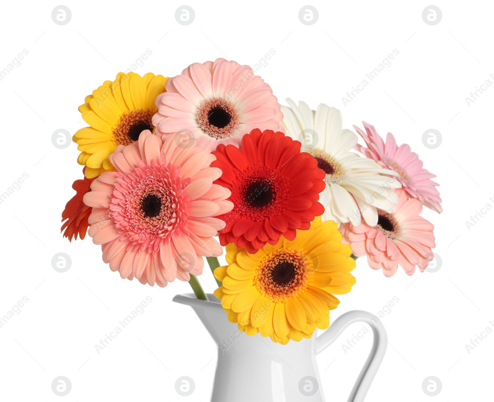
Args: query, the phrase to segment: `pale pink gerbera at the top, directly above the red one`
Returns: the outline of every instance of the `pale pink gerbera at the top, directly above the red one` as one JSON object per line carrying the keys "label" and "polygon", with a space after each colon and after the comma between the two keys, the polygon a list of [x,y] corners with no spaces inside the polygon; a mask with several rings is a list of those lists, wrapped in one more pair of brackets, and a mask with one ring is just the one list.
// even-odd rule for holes
{"label": "pale pink gerbera at the top, directly above the red one", "polygon": [[153,124],[159,133],[186,132],[206,151],[218,144],[238,147],[253,129],[283,131],[271,87],[249,66],[222,58],[191,64],[170,78],[156,106]]}

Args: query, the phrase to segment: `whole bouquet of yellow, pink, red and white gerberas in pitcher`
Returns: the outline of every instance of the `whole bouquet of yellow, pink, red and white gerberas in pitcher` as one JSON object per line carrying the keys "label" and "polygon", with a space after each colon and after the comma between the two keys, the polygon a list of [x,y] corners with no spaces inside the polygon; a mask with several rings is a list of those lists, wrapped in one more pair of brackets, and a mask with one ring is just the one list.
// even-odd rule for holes
{"label": "whole bouquet of yellow, pink, red and white gerberas in pitcher", "polygon": [[122,278],[189,281],[204,300],[206,257],[225,319],[281,344],[329,326],[357,257],[386,276],[423,271],[434,226],[419,214],[442,211],[434,175],[390,133],[354,126],[362,146],[339,110],[287,102],[225,59],[103,82],[79,107],[89,127],[73,137],[84,168],[64,236],[87,230]]}

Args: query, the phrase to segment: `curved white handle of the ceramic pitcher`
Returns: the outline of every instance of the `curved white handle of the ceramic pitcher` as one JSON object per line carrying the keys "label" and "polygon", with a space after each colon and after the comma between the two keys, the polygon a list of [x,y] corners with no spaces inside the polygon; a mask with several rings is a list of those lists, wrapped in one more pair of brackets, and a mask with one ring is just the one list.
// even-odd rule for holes
{"label": "curved white handle of the ceramic pitcher", "polygon": [[319,355],[341,335],[346,327],[354,322],[367,322],[371,325],[372,333],[374,334],[371,353],[367,357],[367,361],[347,400],[347,402],[363,402],[388,345],[386,330],[379,318],[362,310],[342,314],[329,325],[329,328],[325,332],[316,338],[315,353]]}

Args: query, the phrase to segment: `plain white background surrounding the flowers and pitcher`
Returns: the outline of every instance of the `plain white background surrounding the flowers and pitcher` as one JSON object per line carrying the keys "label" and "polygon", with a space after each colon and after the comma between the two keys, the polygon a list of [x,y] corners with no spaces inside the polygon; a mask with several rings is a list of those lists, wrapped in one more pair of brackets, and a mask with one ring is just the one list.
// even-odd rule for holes
{"label": "plain white background surrounding the flowers and pitcher", "polygon": [[[24,172],[19,190],[0,205],[2,265],[0,316],[23,296],[29,301],[0,328],[0,399],[59,401],[51,391],[66,376],[64,401],[208,401],[216,350],[193,311],[171,302],[189,292],[175,281],[160,289],[122,280],[101,260],[90,238],[70,244],[60,234],[60,215],[81,177],[77,145],[57,149],[57,129],[74,134],[86,124],[77,107],[104,80],[114,80],[146,49],[152,54],[136,72],[179,74],[193,62],[216,57],[253,66],[269,49],[276,54],[258,74],[281,103],[286,97],[341,109],[344,127],[365,120],[398,143],[407,142],[441,184],[444,213],[424,210],[435,224],[442,267],[435,273],[392,278],[360,259],[357,284],[331,313],[352,309],[377,314],[393,296],[399,302],[382,318],[388,350],[367,401],[492,400],[494,334],[470,353],[486,327],[494,329],[492,232],[489,211],[468,230],[465,221],[487,203],[492,188],[490,87],[469,106],[465,97],[494,73],[492,2],[437,1],[443,16],[429,26],[424,1],[312,1],[318,21],[303,25],[301,1],[189,1],[191,25],[179,25],[177,1],[67,1],[71,21],[51,19],[55,2],[2,2],[0,70],[23,49],[29,54],[0,81],[0,193]],[[342,97],[365,79],[393,49],[399,55],[358,96]],[[442,134],[428,149],[422,134]],[[70,255],[65,273],[51,266]],[[214,280],[205,269],[207,292]],[[99,354],[94,345],[146,296],[152,302]],[[318,357],[328,401],[346,401],[371,346],[371,335],[350,351],[342,344],[354,324]],[[239,362],[241,363],[241,362]],[[175,380],[194,379],[195,392],[179,396]],[[422,391],[436,376],[442,391]],[[243,392],[253,392],[246,379]],[[250,391],[249,391],[250,390]],[[239,390],[239,392],[242,392]],[[262,396],[253,393],[259,402]]]}

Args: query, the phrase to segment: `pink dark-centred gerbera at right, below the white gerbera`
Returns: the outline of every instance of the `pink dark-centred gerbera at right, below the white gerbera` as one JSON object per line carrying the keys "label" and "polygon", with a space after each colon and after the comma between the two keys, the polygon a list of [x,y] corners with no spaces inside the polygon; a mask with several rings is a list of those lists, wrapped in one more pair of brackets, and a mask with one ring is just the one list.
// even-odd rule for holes
{"label": "pink dark-centred gerbera at right, below the white gerbera", "polygon": [[396,189],[398,204],[393,212],[377,210],[375,226],[362,223],[353,226],[344,223],[339,227],[342,243],[349,244],[357,257],[367,255],[367,262],[373,269],[381,269],[386,276],[395,274],[400,265],[408,275],[418,266],[424,271],[434,258],[432,247],[436,247],[434,225],[419,214],[422,204],[415,198],[408,198],[405,190]]}

